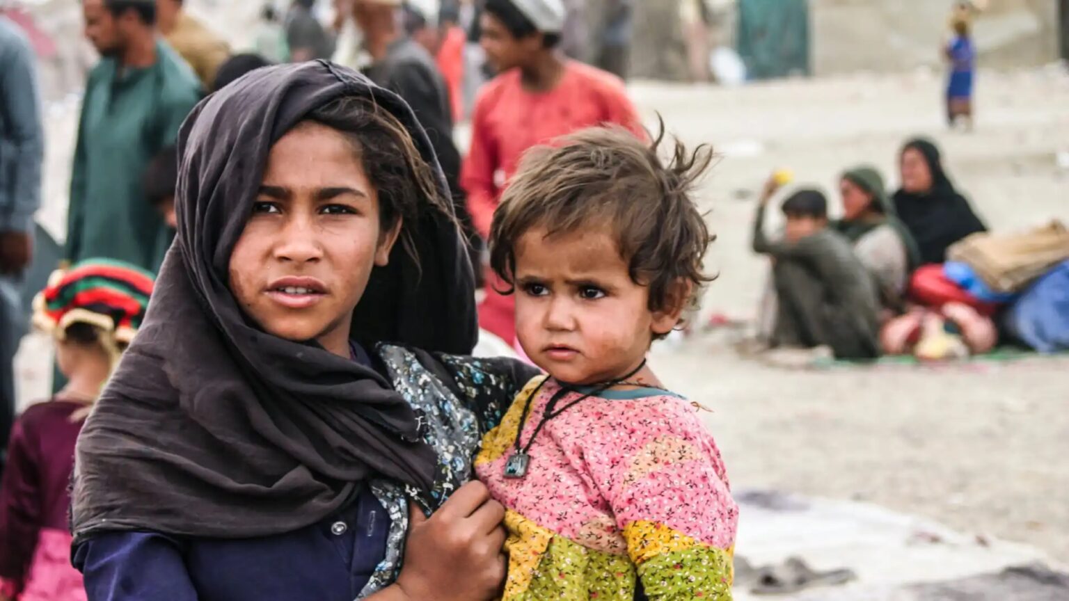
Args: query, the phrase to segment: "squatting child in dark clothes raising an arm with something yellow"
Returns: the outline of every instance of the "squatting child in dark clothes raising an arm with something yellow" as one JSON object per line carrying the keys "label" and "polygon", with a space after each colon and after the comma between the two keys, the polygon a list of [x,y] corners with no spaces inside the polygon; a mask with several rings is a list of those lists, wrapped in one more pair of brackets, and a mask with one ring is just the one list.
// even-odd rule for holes
{"label": "squatting child in dark clothes raising an arm with something yellow", "polygon": [[837,358],[880,355],[878,287],[842,234],[827,227],[827,200],[802,189],[784,202],[783,242],[764,234],[764,210],[778,184],[769,180],[754,220],[754,250],[773,261],[778,308],[773,346],[830,346]]}

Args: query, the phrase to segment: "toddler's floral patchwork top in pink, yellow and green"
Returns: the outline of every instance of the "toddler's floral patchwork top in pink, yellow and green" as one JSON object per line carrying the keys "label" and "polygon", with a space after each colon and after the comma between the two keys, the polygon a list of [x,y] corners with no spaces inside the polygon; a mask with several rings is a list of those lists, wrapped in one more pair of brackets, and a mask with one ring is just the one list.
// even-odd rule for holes
{"label": "toddler's floral patchwork top in pink, yellow and green", "polygon": [[545,423],[524,478],[506,478],[527,399],[537,391],[525,445],[560,389],[541,382],[516,396],[476,460],[508,510],[502,599],[730,601],[739,510],[697,410],[654,389],[590,397]]}

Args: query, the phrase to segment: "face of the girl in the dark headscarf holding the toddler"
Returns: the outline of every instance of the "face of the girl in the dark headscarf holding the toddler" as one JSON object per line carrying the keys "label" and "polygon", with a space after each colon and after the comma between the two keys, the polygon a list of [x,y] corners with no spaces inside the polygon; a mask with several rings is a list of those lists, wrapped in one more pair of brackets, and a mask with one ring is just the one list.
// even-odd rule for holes
{"label": "face of the girl in the dark headscarf holding the toddler", "polygon": [[353,142],[306,122],[272,148],[230,257],[230,289],[264,332],[348,356],[353,310],[401,230],[379,222],[377,190]]}

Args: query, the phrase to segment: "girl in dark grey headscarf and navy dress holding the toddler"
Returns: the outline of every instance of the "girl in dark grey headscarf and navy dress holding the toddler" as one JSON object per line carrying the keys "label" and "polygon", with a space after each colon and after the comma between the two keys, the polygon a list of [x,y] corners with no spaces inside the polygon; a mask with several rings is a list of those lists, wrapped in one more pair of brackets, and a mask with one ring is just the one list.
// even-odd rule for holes
{"label": "girl in dark grey headscarf and navy dress holding the toddler", "polygon": [[177,237],[78,441],[89,598],[491,598],[503,511],[465,482],[533,373],[461,356],[471,268],[412,110],[280,65],[179,151]]}

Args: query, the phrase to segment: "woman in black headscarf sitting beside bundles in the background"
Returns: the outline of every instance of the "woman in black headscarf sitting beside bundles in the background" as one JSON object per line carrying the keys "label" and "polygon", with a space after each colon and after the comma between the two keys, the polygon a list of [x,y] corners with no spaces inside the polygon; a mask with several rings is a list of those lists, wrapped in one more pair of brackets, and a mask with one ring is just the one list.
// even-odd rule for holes
{"label": "woman in black headscarf sitting beside bundles in the background", "polygon": [[923,264],[945,262],[946,250],[954,243],[987,231],[950,183],[934,143],[924,138],[911,140],[899,159],[902,187],[895,192],[895,210],[913,234]]}

